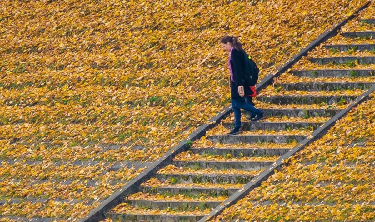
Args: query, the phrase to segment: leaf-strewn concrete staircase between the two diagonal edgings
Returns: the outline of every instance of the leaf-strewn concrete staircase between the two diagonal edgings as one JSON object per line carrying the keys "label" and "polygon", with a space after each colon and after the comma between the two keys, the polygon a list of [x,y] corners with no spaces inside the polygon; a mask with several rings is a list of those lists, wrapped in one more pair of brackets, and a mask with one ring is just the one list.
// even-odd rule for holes
{"label": "leaf-strewn concrete staircase between the two diagonal edgings", "polygon": [[[368,23],[374,24],[375,20],[368,20]],[[375,31],[345,32],[342,36],[375,38]],[[375,44],[324,47],[327,51],[331,48],[341,51],[353,48],[360,51],[375,50]],[[375,64],[375,56],[308,59],[318,64],[353,61]],[[256,104],[267,105],[268,108],[263,111],[269,118],[259,122],[243,122],[246,131],[240,135],[208,135],[206,139],[218,144],[217,147],[193,146],[178,154],[171,165],[160,169],[153,178],[142,183],[138,193],[127,196],[122,204],[107,213],[107,217],[137,222],[198,221],[360,96],[344,90],[365,92],[371,86],[368,82],[338,82],[329,81],[329,78],[366,78],[374,75],[374,70],[294,70],[290,74],[301,80],[275,84],[275,90],[281,87],[284,93],[274,95],[265,90],[266,93],[262,91],[255,101]],[[328,80],[315,81],[320,77]],[[290,119],[285,120],[282,118],[284,116]],[[233,123],[225,122],[223,127],[229,131]],[[241,147],[239,144],[253,148]]]}

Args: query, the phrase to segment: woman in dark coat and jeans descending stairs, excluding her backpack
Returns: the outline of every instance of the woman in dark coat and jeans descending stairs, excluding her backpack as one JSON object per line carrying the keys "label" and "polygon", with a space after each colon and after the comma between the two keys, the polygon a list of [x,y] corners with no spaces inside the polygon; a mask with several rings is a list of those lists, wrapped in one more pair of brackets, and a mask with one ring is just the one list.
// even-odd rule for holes
{"label": "woman in dark coat and jeans descending stairs, excluding her backpack", "polygon": [[221,43],[223,47],[229,51],[228,66],[230,74],[232,108],[235,118],[234,129],[228,133],[228,135],[235,135],[243,132],[241,128],[241,109],[251,113],[253,116],[249,119],[251,121],[264,119],[266,118],[266,115],[253,105],[245,102],[244,97],[252,95],[254,92],[252,92],[250,86],[245,81],[243,71],[245,52],[242,49],[242,44],[238,42],[237,37],[234,36],[224,36],[221,39]]}

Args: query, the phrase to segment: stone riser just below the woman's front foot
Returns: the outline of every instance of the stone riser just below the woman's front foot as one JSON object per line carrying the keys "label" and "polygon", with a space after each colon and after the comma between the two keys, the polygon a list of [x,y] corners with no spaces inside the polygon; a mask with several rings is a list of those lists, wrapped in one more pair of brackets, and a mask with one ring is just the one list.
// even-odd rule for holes
{"label": "stone riser just below the woman's front foot", "polygon": [[217,135],[217,136],[208,136],[207,139],[211,142],[219,142],[226,144],[237,144],[237,143],[263,143],[263,142],[272,142],[272,143],[292,143],[294,140],[297,142],[302,141],[305,136],[299,135]]}

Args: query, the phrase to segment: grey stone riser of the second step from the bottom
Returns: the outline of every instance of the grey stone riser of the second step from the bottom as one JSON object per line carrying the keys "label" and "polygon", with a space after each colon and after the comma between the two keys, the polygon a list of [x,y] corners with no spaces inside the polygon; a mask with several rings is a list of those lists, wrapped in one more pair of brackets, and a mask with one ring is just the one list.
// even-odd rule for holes
{"label": "grey stone riser of the second step from the bottom", "polygon": [[168,207],[176,210],[195,210],[195,207],[198,207],[204,210],[205,208],[215,208],[221,203],[217,201],[154,201],[148,199],[125,200],[124,202],[134,207],[160,210]]}

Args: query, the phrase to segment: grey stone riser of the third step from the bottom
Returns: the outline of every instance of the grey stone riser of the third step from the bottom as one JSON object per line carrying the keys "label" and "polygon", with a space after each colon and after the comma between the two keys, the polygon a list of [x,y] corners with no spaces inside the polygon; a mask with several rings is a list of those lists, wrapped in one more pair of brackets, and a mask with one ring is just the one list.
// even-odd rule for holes
{"label": "grey stone riser of the third step from the bottom", "polygon": [[141,186],[141,192],[151,194],[181,194],[184,196],[197,196],[205,194],[208,196],[231,196],[239,188],[221,187],[178,187],[178,186]]}

